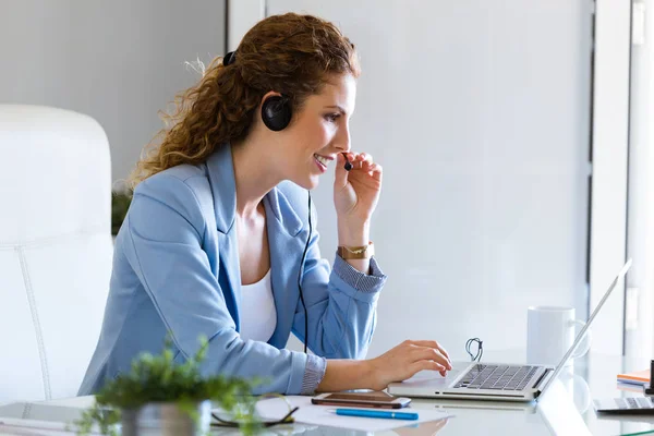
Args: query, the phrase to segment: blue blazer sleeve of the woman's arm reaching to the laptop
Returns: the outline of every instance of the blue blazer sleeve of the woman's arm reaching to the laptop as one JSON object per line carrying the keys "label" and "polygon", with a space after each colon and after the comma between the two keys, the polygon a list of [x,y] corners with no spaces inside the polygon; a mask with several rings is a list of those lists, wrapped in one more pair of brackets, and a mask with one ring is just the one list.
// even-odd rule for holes
{"label": "blue blazer sleeve of the woman's arm reaching to the laptop", "polygon": [[161,174],[142,182],[126,221],[126,257],[179,350],[178,361],[193,355],[199,336],[205,335],[209,338],[202,363],[205,375],[264,379],[255,393],[296,395],[315,389],[306,380],[314,378],[311,370],[319,358],[245,341],[237,332],[202,246],[206,219],[184,181]]}

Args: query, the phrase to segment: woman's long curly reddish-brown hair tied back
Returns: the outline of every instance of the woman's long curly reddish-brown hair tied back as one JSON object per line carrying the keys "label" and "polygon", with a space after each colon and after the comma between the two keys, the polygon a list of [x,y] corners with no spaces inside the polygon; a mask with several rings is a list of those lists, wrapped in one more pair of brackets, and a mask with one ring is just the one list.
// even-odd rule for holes
{"label": "woman's long curly reddish-brown hair tied back", "polygon": [[215,58],[199,82],[174,98],[173,113],[161,112],[168,126],[144,148],[128,185],[134,190],[168,168],[201,164],[217,147],[243,140],[266,93],[286,95],[296,112],[330,74],[343,73],[359,77],[361,70],[354,45],[332,23],[294,13],[262,20],[232,63]]}

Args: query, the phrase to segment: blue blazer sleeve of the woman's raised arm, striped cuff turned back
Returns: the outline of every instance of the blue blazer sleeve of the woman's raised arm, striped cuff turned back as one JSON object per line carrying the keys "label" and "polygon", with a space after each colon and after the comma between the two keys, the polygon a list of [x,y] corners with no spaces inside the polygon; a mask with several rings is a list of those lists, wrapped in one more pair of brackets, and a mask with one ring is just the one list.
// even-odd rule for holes
{"label": "blue blazer sleeve of the woman's raised arm, striped cuff turned back", "polygon": [[[312,216],[315,216],[312,210]],[[308,312],[304,338],[304,307],[298,302],[293,334],[316,354],[331,359],[364,359],[376,325],[376,306],[386,276],[375,258],[363,274],[336,255],[334,268],[320,257],[318,232],[313,231],[302,277]]]}

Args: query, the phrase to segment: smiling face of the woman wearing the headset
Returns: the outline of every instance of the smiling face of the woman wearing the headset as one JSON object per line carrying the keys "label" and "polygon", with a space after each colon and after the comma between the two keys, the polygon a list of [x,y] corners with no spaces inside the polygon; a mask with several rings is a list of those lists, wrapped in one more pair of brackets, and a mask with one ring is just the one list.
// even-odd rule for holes
{"label": "smiling face of the woman wearing the headset", "polygon": [[350,74],[334,75],[320,94],[310,96],[284,130],[288,179],[311,190],[318,185],[338,153],[350,149],[350,117],[354,111],[356,82]]}

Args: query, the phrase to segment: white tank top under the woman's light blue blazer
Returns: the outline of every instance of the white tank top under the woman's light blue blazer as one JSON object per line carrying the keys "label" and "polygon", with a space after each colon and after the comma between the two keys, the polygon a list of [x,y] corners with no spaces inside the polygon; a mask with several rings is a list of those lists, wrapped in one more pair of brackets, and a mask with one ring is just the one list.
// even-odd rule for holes
{"label": "white tank top under the woman's light blue blazer", "polygon": [[268,342],[277,327],[270,269],[263,279],[241,286],[241,339]]}

